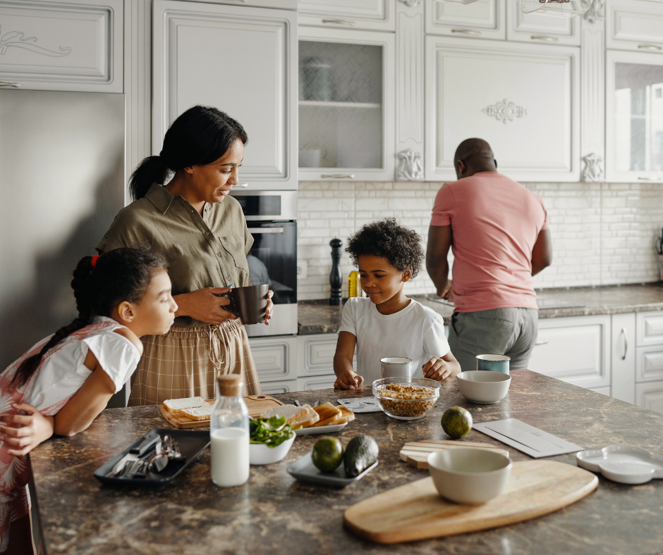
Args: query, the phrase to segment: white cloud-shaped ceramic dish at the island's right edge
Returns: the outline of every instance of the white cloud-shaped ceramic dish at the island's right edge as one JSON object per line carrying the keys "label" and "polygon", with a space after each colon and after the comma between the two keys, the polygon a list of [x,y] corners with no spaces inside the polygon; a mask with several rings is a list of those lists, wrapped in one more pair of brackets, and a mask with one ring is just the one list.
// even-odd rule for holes
{"label": "white cloud-shaped ceramic dish at the island's right edge", "polygon": [[644,484],[663,478],[663,456],[634,445],[609,445],[576,453],[581,468],[622,484]]}

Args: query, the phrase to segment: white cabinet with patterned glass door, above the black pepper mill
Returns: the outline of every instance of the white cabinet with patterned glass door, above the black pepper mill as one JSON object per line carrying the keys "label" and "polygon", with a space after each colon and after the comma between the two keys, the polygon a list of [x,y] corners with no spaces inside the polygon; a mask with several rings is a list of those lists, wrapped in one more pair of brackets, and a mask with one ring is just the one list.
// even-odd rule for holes
{"label": "white cabinet with patterned glass door, above the black pepper mill", "polygon": [[394,35],[299,37],[299,179],[393,179]]}

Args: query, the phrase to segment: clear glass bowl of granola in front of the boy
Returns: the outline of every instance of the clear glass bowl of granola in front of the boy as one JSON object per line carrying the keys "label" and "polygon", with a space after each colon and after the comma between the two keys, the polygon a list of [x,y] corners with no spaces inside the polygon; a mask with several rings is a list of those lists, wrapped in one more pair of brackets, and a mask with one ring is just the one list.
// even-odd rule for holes
{"label": "clear glass bowl of granola in front of the boy", "polygon": [[417,420],[435,406],[441,387],[428,378],[382,378],[373,382],[373,395],[387,416]]}

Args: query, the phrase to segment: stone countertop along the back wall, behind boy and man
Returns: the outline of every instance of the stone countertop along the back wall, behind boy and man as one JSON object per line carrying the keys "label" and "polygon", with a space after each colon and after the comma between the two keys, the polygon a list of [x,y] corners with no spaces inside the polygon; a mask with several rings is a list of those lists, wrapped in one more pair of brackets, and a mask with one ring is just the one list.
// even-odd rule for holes
{"label": "stone countertop along the back wall, behind boy and man", "polygon": [[[433,295],[413,295],[421,304],[432,308],[449,325],[454,307],[446,301],[432,300]],[[663,310],[663,287],[657,283],[606,287],[571,287],[537,290],[539,318],[590,316]],[[342,306],[329,306],[329,301],[301,301],[298,304],[299,335],[336,333],[341,325]]]}

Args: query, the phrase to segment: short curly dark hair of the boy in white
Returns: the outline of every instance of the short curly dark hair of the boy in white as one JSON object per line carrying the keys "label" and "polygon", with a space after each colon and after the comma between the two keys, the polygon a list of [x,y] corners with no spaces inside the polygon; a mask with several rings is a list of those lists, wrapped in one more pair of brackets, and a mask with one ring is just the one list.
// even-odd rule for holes
{"label": "short curly dark hair of the boy in white", "polygon": [[411,266],[413,278],[419,273],[424,258],[419,234],[399,225],[396,218],[384,218],[364,225],[348,237],[346,252],[355,266],[358,266],[359,257],[363,254],[386,258],[400,272]]}

